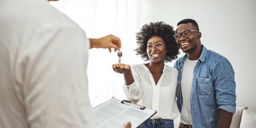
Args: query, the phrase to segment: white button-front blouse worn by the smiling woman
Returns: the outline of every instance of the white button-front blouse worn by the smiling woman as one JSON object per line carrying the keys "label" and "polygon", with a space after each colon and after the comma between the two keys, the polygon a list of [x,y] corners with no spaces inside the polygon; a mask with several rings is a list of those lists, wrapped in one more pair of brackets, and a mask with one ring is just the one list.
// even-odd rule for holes
{"label": "white button-front blouse worn by the smiling woman", "polygon": [[179,116],[176,101],[178,70],[164,65],[163,74],[157,84],[144,64],[132,65],[134,82],[123,86],[127,100],[156,110],[151,119],[175,119]]}

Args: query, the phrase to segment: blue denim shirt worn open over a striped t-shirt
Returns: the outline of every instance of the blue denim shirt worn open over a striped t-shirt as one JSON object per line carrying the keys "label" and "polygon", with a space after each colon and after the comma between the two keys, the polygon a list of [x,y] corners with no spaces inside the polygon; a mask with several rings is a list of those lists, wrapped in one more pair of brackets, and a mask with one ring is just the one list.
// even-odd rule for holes
{"label": "blue denim shirt worn open over a striped t-shirt", "polygon": [[[193,128],[215,128],[218,124],[219,109],[232,114],[236,111],[236,83],[232,65],[222,55],[207,50],[202,53],[193,72],[190,92],[190,111]],[[181,113],[182,94],[180,81],[187,54],[174,64],[179,70],[177,105]]]}

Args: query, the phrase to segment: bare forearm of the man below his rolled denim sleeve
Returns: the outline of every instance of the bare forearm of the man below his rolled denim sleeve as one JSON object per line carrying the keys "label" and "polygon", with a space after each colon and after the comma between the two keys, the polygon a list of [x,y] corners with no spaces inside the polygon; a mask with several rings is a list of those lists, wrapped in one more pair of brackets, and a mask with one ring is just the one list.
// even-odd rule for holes
{"label": "bare forearm of the man below his rolled denim sleeve", "polygon": [[220,116],[218,120],[218,128],[229,128],[232,121],[233,114],[223,109],[220,109]]}

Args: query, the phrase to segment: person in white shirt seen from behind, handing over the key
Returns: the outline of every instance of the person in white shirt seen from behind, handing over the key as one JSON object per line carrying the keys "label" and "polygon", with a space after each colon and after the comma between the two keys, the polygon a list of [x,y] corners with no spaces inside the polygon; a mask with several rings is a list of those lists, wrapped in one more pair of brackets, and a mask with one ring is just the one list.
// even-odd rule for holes
{"label": "person in white shirt seen from behind, handing over the key", "polygon": [[93,128],[86,68],[94,47],[116,51],[121,41],[87,39],[46,0],[0,0],[0,128]]}

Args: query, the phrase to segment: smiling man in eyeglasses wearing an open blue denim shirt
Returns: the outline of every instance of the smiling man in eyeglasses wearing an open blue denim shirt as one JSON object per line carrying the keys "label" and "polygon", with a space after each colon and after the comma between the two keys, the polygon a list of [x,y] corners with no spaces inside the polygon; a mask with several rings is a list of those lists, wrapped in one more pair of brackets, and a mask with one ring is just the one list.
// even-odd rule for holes
{"label": "smiling man in eyeglasses wearing an open blue denim shirt", "polygon": [[174,65],[179,70],[179,128],[229,128],[236,111],[232,65],[201,44],[202,34],[195,20],[181,20],[173,36],[186,53]]}

